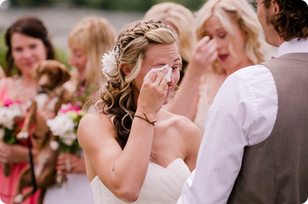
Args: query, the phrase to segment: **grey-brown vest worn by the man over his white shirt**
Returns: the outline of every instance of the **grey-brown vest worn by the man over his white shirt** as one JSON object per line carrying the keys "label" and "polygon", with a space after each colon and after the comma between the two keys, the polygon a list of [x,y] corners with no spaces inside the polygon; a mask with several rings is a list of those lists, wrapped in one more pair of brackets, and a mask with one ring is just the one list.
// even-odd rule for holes
{"label": "grey-brown vest worn by the man over his white shirt", "polygon": [[267,139],[245,147],[228,204],[302,204],[308,197],[308,53],[262,64],[274,76],[277,119]]}

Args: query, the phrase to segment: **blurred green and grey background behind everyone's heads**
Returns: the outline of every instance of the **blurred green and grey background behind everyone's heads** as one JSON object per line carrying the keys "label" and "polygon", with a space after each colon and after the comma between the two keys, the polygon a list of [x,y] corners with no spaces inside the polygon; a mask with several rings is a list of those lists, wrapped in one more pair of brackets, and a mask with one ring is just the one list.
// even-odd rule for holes
{"label": "blurred green and grey background behind everyone's heads", "polygon": [[0,0],[0,65],[5,67],[3,34],[22,15],[33,14],[43,20],[59,60],[67,64],[68,33],[83,17],[105,17],[119,31],[123,25],[143,17],[152,5],[165,1],[180,3],[194,12],[206,0]]}

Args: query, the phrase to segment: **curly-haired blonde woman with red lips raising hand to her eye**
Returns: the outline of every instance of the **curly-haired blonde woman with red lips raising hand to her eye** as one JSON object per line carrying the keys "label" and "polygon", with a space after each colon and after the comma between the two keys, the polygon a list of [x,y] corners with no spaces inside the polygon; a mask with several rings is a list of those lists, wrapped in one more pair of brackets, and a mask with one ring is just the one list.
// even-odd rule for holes
{"label": "curly-haired blonde woman with red lips raising hand to her eye", "polygon": [[226,77],[265,61],[267,45],[256,11],[246,0],[206,1],[195,27],[199,42],[168,110],[194,121],[203,135],[205,115]]}

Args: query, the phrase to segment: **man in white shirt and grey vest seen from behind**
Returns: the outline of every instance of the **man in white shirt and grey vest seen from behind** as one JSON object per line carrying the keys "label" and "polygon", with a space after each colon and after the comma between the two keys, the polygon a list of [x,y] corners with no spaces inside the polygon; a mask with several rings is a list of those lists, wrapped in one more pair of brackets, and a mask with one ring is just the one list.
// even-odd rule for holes
{"label": "man in white shirt and grey vest seen from behind", "polygon": [[223,83],[178,204],[303,204],[308,198],[308,5],[256,0],[277,56]]}

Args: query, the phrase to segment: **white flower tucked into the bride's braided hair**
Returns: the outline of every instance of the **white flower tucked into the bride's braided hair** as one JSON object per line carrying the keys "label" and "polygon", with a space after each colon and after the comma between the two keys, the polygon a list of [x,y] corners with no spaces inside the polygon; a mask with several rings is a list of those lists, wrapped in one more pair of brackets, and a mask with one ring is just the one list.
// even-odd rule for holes
{"label": "white flower tucked into the bride's braided hair", "polygon": [[117,51],[109,51],[109,54],[104,53],[103,59],[102,59],[102,65],[103,65],[103,75],[107,78],[107,80],[110,80],[110,76],[114,76],[118,72],[118,65],[116,61],[116,54],[118,54]]}

